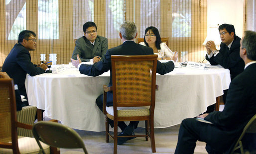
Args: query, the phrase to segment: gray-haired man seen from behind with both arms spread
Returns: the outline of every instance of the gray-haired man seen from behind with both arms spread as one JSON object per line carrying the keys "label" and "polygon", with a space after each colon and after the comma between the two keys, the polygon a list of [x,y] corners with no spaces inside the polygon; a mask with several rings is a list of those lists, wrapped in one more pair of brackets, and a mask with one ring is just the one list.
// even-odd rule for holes
{"label": "gray-haired man seen from behind with both arms spread", "polygon": [[[72,64],[77,67],[82,74],[86,74],[89,76],[98,76],[110,70],[110,83],[109,86],[112,86],[112,68],[111,68],[111,55],[148,55],[154,54],[152,48],[142,46],[136,44],[134,39],[137,36],[137,27],[134,22],[127,21],[124,22],[120,26],[120,33],[119,36],[123,42],[122,45],[109,49],[107,53],[104,55],[103,60],[93,64],[82,64],[77,55],[78,60],[74,60],[71,58]],[[174,69],[174,61],[177,60],[177,52],[175,51],[174,56],[168,62],[161,63],[157,60],[157,70],[156,72],[164,75],[165,73],[169,73]],[[96,103],[98,107],[103,111],[103,94],[100,95],[96,99]],[[107,106],[113,106],[113,93],[107,93]],[[133,130],[137,127],[138,121],[130,121],[128,126],[125,124],[124,121],[119,121],[118,126],[121,128],[122,133],[119,136],[126,136],[126,135],[133,135]],[[114,127],[113,121],[110,121],[111,127]],[[129,138],[118,138],[118,144],[122,145]]]}

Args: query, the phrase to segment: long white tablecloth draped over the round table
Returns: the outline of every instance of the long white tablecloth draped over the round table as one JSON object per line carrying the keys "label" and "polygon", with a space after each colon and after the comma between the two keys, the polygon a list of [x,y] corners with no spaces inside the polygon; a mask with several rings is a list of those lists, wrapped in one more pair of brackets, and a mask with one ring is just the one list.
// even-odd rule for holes
{"label": "long white tablecloth draped over the round table", "polygon": [[[69,65],[65,65],[69,67]],[[105,116],[95,103],[109,84],[110,72],[98,77],[67,69],[58,74],[27,75],[26,90],[30,105],[45,110],[45,116],[58,119],[71,128],[105,131]],[[154,127],[163,128],[181,123],[184,118],[204,112],[216,103],[216,97],[228,89],[230,74],[221,67],[175,68],[156,76]],[[140,122],[139,126],[144,126]]]}

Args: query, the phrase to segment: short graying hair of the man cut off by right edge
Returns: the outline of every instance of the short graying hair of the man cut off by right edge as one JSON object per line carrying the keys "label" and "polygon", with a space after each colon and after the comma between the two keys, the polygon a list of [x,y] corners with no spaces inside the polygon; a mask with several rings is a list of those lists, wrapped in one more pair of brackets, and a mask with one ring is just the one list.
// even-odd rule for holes
{"label": "short graying hair of the man cut off by right edge", "polygon": [[256,60],[256,32],[245,31],[245,36],[242,41],[242,49],[246,49],[247,58]]}

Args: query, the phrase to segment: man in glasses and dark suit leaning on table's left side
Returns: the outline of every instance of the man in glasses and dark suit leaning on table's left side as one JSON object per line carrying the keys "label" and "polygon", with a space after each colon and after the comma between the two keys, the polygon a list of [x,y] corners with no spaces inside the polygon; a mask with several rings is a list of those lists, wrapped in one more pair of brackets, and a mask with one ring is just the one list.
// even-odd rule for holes
{"label": "man in glasses and dark suit leaning on table's left side", "polygon": [[[36,49],[36,34],[33,31],[23,30],[18,35],[18,43],[14,45],[2,65],[2,72],[6,72],[10,78],[13,79],[14,84],[17,85],[15,96],[17,100],[20,95],[27,100],[25,89],[26,74],[35,76],[45,73],[48,68],[46,64],[34,65],[31,62],[29,51]],[[28,102],[22,102],[20,106],[17,103],[17,110],[21,110],[22,106],[27,106]]]}

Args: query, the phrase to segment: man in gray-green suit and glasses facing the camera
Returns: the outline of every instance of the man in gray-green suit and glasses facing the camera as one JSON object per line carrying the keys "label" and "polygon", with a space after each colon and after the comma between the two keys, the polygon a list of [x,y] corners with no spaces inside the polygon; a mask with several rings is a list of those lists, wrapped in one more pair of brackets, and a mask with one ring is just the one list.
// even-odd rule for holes
{"label": "man in gray-green suit and glasses facing the camera", "polygon": [[108,50],[108,39],[97,34],[97,26],[88,21],[83,26],[84,36],[76,40],[76,46],[72,59],[77,60],[77,54],[81,61],[98,62]]}

